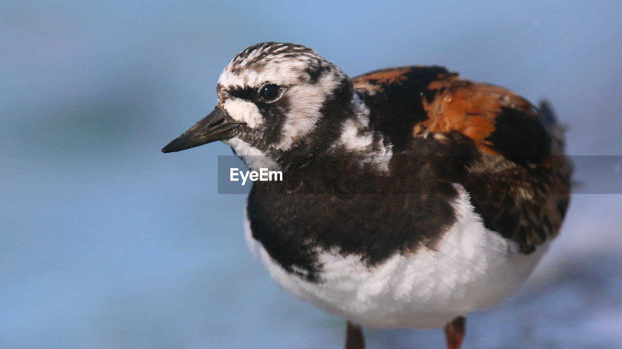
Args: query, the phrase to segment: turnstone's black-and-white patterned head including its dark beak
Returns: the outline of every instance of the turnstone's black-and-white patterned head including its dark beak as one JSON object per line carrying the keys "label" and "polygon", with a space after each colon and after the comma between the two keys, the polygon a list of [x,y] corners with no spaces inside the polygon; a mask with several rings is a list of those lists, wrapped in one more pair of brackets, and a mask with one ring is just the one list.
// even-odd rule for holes
{"label": "turnstone's black-and-white patterned head including its dark beak", "polygon": [[338,137],[334,125],[355,104],[350,78],[294,43],[246,48],[225,67],[216,91],[214,111],[162,152],[222,140],[253,170],[288,166]]}

